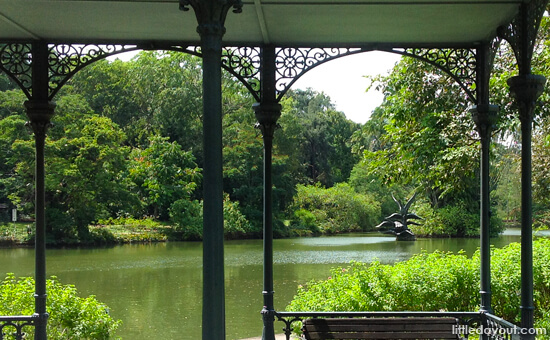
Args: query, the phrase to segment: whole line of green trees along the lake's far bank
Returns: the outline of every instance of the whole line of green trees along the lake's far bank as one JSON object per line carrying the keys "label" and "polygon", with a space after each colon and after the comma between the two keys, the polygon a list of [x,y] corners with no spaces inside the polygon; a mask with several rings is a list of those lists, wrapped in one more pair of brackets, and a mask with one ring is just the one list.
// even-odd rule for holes
{"label": "whole line of green trees along the lake's far bank", "polygon": [[[548,31],[541,30],[534,73],[550,69]],[[492,103],[501,107],[491,150],[495,232],[520,211],[519,124],[506,85],[512,64],[503,46],[491,81]],[[51,240],[86,241],[89,225],[124,218],[150,218],[175,226],[180,239],[201,238],[201,78],[196,57],[140,52],[130,61],[98,61],[61,89],[46,145]],[[417,233],[477,235],[479,138],[462,89],[411,58],[371,81],[384,100],[365,124],[346,119],[312,89],[282,100],[273,156],[276,236],[372,230],[396,211],[391,194],[414,192],[412,210],[425,218]],[[226,236],[261,237],[263,145],[254,100],[227,73],[223,93]],[[548,93],[541,99],[547,102]],[[24,101],[0,75],[0,204],[32,218],[34,142]],[[550,224],[547,110],[539,110],[533,138],[537,226]]]}

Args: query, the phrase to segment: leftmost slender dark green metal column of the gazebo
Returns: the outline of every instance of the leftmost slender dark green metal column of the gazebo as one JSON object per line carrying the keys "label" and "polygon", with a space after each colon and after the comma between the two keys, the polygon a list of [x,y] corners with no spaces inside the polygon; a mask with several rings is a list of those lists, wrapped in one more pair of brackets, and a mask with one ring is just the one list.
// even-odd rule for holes
{"label": "leftmost slender dark green metal column of the gazebo", "polygon": [[25,102],[29,117],[28,125],[34,132],[36,148],[35,164],[35,308],[36,340],[46,340],[46,215],[45,215],[45,170],[44,144],[50,119],[54,114],[55,105],[48,100],[48,45],[36,42],[32,46],[32,99]]}

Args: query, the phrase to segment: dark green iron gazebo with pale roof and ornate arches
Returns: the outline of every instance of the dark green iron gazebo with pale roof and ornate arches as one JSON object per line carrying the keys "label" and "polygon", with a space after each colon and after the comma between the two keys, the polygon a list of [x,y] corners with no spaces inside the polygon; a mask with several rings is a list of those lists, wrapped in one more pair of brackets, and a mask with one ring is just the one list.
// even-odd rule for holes
{"label": "dark green iron gazebo with pale roof and ornate arches", "polygon": [[[278,312],[273,305],[271,155],[279,101],[311,68],[378,50],[441,68],[472,101],[471,113],[481,137],[481,308],[462,316],[533,338],[528,332],[533,328],[534,309],[531,129],[545,78],[531,74],[531,59],[546,4],[546,0],[0,0],[0,70],[26,94],[25,109],[36,141],[35,313],[0,317],[0,333],[12,327],[21,338],[23,328],[32,326],[35,339],[47,339],[44,141],[54,116],[55,95],[86,65],[139,49],[178,50],[203,60],[202,338],[225,339],[222,68],[241,80],[257,100],[253,110],[264,140],[263,339],[274,339],[276,318],[289,331],[293,320],[327,316]],[[489,76],[504,41],[515,53],[519,73],[508,82],[518,104],[522,132],[519,327],[492,315],[491,310],[489,145],[498,108],[490,102]],[[392,316],[386,314],[378,316]],[[434,313],[417,316],[433,317]]]}

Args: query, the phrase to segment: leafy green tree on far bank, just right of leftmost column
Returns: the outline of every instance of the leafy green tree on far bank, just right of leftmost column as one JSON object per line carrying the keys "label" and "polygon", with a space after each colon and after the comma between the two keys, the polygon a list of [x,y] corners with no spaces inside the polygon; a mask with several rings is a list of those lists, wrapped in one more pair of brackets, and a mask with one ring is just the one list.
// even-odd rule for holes
{"label": "leafy green tree on far bank, just right of leftmost column", "polygon": [[127,190],[126,136],[109,118],[91,111],[80,96],[67,95],[57,103],[57,124],[47,144],[46,177],[49,230],[76,226],[81,240],[88,225],[123,211],[131,211],[135,197]]}

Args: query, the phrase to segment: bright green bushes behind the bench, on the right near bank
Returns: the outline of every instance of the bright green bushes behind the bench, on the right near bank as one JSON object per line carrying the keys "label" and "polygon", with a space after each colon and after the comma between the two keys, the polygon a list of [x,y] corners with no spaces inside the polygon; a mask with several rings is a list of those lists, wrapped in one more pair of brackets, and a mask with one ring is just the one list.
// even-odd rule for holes
{"label": "bright green bushes behind the bench, on the right near bank", "polygon": [[[537,324],[550,311],[550,240],[533,244]],[[479,308],[479,253],[421,253],[394,265],[352,263],[331,271],[327,280],[299,286],[289,311],[475,311]],[[520,245],[493,249],[493,310],[520,318]]]}

